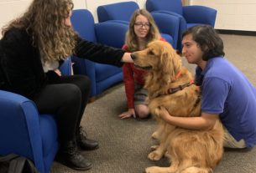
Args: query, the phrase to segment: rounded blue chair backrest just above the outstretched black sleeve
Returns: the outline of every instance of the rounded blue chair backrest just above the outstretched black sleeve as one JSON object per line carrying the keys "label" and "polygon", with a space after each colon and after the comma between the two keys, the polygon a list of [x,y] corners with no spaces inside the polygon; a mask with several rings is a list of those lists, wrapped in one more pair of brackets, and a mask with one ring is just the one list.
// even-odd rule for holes
{"label": "rounded blue chair backrest just above the outstretched black sleeve", "polygon": [[76,32],[80,34],[81,38],[85,38],[91,42],[97,42],[94,18],[90,11],[87,9],[73,10],[71,23]]}

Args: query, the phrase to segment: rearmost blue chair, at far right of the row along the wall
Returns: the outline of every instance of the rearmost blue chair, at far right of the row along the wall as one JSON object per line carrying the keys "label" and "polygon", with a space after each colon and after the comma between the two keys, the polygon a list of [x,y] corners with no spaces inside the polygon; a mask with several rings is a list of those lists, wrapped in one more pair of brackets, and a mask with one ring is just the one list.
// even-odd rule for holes
{"label": "rearmost blue chair, at far right of the row along the wall", "polygon": [[217,10],[204,6],[182,6],[181,0],[147,0],[149,12],[167,13],[180,18],[177,48],[181,50],[181,34],[197,24],[208,24],[214,27]]}

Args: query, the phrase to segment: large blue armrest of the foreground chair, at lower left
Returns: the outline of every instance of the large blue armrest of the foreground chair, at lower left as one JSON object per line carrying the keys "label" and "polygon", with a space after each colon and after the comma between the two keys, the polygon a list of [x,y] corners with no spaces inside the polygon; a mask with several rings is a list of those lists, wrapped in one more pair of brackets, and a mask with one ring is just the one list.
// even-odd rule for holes
{"label": "large blue armrest of the foreground chair, at lower left", "polygon": [[34,160],[44,171],[39,113],[34,102],[0,90],[0,154],[15,153]]}

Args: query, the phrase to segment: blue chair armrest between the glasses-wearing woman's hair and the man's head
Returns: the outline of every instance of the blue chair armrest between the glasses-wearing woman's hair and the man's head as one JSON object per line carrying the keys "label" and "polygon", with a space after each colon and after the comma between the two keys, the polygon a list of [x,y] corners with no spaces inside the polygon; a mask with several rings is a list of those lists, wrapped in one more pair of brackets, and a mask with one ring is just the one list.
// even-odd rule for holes
{"label": "blue chair armrest between the glasses-wearing woman's hair and the man's head", "polygon": [[151,15],[153,16],[160,33],[169,34],[173,38],[173,43],[171,44],[173,48],[176,48],[179,35],[180,18],[168,13],[159,12],[152,12]]}

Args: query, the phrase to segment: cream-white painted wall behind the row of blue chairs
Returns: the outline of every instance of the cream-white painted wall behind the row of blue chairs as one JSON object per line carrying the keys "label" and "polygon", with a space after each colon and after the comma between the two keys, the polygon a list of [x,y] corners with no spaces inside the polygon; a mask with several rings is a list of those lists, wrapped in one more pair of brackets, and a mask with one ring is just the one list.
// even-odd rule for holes
{"label": "cream-white painted wall behind the row of blue chairs", "polygon": [[[24,13],[32,0],[0,0],[0,28],[8,21]],[[73,0],[75,8],[91,11],[97,23],[97,7],[103,4],[132,0]],[[144,8],[146,0],[133,0]],[[184,0],[188,2],[189,0]],[[204,5],[217,9],[215,28],[256,31],[256,0],[190,0],[191,5]],[[1,35],[1,34],[0,34]]]}

